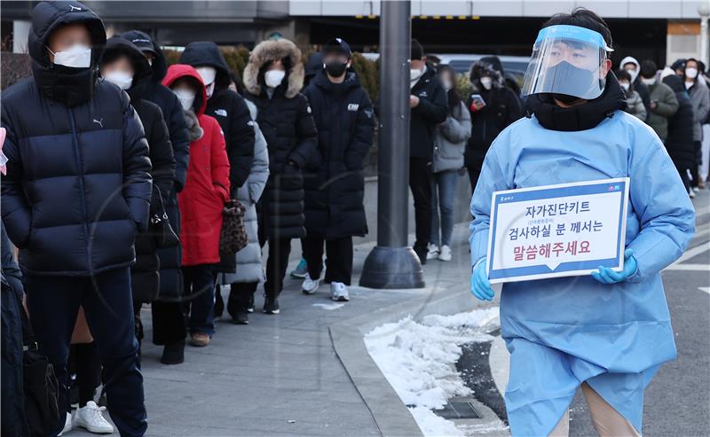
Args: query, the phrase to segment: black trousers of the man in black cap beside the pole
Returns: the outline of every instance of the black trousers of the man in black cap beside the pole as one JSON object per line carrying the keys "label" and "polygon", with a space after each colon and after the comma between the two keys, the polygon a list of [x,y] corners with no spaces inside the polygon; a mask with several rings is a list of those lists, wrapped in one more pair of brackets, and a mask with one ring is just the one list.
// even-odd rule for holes
{"label": "black trousers of the man in black cap beside the pole", "polygon": [[323,243],[326,246],[326,282],[342,282],[350,285],[352,276],[352,237],[323,239],[304,238],[304,256],[308,274],[312,279],[323,271]]}

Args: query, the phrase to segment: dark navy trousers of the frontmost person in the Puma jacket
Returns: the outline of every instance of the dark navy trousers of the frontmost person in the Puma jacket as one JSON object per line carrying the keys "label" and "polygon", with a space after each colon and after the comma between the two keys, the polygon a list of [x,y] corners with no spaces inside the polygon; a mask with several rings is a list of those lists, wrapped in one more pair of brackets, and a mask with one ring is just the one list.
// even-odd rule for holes
{"label": "dark navy trousers of the frontmost person in the Puma jacket", "polygon": [[130,269],[115,269],[94,277],[28,276],[28,309],[36,339],[59,380],[61,432],[68,405],[67,360],[79,307],[99,347],[107,410],[122,436],[146,433],[143,375],[130,293]]}

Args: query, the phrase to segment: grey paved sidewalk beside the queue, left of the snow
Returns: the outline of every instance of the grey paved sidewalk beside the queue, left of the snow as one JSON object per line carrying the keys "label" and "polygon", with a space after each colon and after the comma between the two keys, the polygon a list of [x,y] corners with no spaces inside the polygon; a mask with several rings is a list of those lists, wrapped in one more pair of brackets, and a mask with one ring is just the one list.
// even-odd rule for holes
{"label": "grey paved sidewalk beside the queue, left of the snow", "polygon": [[185,363],[177,366],[159,363],[162,347],[151,343],[150,311],[144,308],[148,435],[421,434],[369,359],[362,333],[408,314],[418,318],[483,306],[469,296],[467,238],[467,225],[457,225],[454,261],[424,266],[427,287],[420,290],[356,286],[373,243],[355,246],[348,303],[330,300],[329,285],[304,296],[300,280],[287,278],[281,314],[266,316],[260,312],[260,287],[250,324],[218,323],[209,347],[188,346]]}

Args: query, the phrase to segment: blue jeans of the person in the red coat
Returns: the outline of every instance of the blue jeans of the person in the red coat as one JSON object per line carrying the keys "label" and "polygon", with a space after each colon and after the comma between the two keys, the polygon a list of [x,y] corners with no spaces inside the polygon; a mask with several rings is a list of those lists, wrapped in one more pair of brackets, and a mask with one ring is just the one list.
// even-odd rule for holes
{"label": "blue jeans of the person in the red coat", "polygon": [[188,316],[190,334],[215,333],[215,277],[209,264],[184,266],[185,315]]}

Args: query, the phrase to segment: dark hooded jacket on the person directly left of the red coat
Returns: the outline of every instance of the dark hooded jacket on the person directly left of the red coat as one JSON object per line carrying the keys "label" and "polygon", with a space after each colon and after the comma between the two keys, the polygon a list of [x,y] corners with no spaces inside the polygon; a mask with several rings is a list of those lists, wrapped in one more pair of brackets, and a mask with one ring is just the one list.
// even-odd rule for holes
{"label": "dark hooded jacket on the person directly left of the red coat", "polygon": [[168,72],[165,55],[163,55],[160,45],[143,32],[130,30],[122,34],[121,37],[133,43],[144,53],[146,51],[154,53],[153,65],[151,66],[153,75],[150,81],[146,83],[146,89],[140,94],[142,98],[153,102],[161,108],[163,120],[170,132],[170,144],[175,158],[175,189],[177,192],[182,191],[187,177],[190,139],[187,136],[185,113],[180,101],[174,92],[162,84],[162,78]]}

